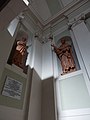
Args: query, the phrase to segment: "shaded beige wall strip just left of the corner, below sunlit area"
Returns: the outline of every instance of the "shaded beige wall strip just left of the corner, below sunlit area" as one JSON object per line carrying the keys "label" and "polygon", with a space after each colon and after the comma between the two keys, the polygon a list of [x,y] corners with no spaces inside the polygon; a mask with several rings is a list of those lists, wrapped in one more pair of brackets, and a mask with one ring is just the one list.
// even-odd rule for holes
{"label": "shaded beige wall strip just left of the corner, below sunlit area", "polygon": [[41,120],[41,79],[33,70],[28,120]]}

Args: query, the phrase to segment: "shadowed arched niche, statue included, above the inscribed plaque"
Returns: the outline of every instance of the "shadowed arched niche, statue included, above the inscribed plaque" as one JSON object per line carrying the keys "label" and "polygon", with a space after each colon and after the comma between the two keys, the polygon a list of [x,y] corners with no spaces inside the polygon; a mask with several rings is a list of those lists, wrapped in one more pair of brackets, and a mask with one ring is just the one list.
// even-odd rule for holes
{"label": "shadowed arched niche, statue included, above the inscribed plaque", "polygon": [[23,30],[19,30],[15,42],[12,46],[10,56],[7,61],[9,65],[14,64],[17,67],[23,69],[24,72],[27,71],[27,66],[26,66],[26,60],[28,55],[27,40],[28,40],[28,34]]}

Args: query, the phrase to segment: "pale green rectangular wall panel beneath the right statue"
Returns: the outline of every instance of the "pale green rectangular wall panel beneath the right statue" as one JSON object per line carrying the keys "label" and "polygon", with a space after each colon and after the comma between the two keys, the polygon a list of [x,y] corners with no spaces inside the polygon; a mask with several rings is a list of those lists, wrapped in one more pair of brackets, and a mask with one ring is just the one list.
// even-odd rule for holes
{"label": "pale green rectangular wall panel beneath the right statue", "polygon": [[83,74],[62,79],[59,85],[62,110],[90,108],[90,96]]}

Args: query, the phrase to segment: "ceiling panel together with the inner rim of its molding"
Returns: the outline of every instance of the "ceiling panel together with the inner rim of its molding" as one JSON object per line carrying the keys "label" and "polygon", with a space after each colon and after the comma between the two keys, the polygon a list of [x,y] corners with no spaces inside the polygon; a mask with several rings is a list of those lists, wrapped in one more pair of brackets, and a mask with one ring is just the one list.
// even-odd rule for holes
{"label": "ceiling panel together with the inner rim of its molding", "polygon": [[41,23],[48,23],[81,0],[31,0],[30,10]]}

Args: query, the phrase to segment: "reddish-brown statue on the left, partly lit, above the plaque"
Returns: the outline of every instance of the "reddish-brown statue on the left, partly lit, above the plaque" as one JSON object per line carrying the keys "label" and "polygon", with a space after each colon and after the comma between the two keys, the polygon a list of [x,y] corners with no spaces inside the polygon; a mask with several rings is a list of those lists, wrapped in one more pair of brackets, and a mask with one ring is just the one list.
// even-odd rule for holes
{"label": "reddish-brown statue on the left, partly lit, above the plaque", "polygon": [[27,53],[26,42],[27,42],[27,39],[25,37],[22,37],[21,40],[17,40],[16,49],[14,52],[14,56],[12,58],[12,64],[17,65],[20,68],[23,68],[24,56]]}

